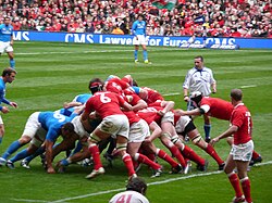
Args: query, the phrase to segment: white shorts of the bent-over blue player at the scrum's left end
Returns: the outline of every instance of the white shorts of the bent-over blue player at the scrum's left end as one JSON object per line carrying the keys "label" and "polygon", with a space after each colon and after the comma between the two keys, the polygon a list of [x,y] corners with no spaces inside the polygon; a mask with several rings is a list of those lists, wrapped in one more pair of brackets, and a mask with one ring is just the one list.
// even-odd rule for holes
{"label": "white shorts of the bent-over blue player at the scrum's left end", "polygon": [[39,113],[40,112],[35,112],[28,117],[22,136],[27,136],[33,139],[38,129],[41,128],[41,124],[38,119]]}

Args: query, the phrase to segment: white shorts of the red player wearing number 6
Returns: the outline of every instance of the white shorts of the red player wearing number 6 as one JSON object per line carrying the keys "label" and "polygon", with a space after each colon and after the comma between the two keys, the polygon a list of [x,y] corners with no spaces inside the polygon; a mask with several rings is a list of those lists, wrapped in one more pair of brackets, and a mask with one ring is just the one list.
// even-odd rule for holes
{"label": "white shorts of the red player wearing number 6", "polygon": [[112,138],[116,138],[119,135],[128,139],[129,123],[125,115],[110,115],[102,119],[98,129],[111,134]]}

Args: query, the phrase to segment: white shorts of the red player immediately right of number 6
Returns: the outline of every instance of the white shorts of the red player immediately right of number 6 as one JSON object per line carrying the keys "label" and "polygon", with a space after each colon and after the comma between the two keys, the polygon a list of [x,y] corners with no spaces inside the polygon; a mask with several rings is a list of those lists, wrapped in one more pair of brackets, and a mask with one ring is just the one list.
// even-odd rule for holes
{"label": "white shorts of the red player immediately right of number 6", "polygon": [[150,131],[148,124],[144,119],[140,119],[129,127],[128,143],[143,142],[149,136]]}

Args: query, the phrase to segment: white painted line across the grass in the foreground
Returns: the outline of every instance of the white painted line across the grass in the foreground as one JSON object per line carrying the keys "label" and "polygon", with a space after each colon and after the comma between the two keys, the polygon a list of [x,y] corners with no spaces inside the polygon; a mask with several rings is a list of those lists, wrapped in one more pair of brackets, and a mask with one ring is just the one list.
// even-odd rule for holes
{"label": "white painted line across the grass in the foreground", "polygon": [[[272,164],[272,161],[256,164],[256,166],[262,166],[262,165],[269,165],[269,164]],[[221,174],[221,173],[223,173],[223,172],[222,170],[217,170],[217,172],[211,172],[211,173],[194,174],[194,175],[189,175],[189,176],[182,176],[182,177],[177,177],[177,178],[170,178],[170,179],[166,179],[166,180],[150,182],[147,186],[162,185],[162,183],[168,183],[168,182],[172,182],[172,181],[185,180],[185,179],[195,178],[195,177],[202,177],[202,176],[211,176],[211,175]],[[124,190],[125,190],[125,188],[119,188],[119,189],[114,189],[114,190],[107,190],[107,191],[95,192],[95,193],[89,193],[89,194],[84,194],[84,195],[78,195],[78,196],[65,198],[65,199],[51,201],[51,202],[48,202],[48,201],[45,201],[45,200],[27,200],[27,199],[11,199],[11,200],[16,201],[16,202],[58,203],[58,202],[65,202],[65,201],[70,201],[70,200],[77,200],[77,199],[84,199],[84,198],[89,198],[89,196],[96,196],[96,195],[100,195],[100,194],[107,194],[107,193],[111,193],[111,192],[120,192],[120,191],[124,191]]]}

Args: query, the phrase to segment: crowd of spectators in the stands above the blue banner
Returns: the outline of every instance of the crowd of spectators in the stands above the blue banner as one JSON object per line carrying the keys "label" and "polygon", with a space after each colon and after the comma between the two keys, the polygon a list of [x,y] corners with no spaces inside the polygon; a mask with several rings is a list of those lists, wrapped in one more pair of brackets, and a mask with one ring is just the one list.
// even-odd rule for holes
{"label": "crowd of spectators in the stands above the blue banner", "polygon": [[272,38],[271,0],[177,0],[169,11],[153,0],[0,0],[0,21],[14,30],[129,34],[144,13],[147,34]]}

